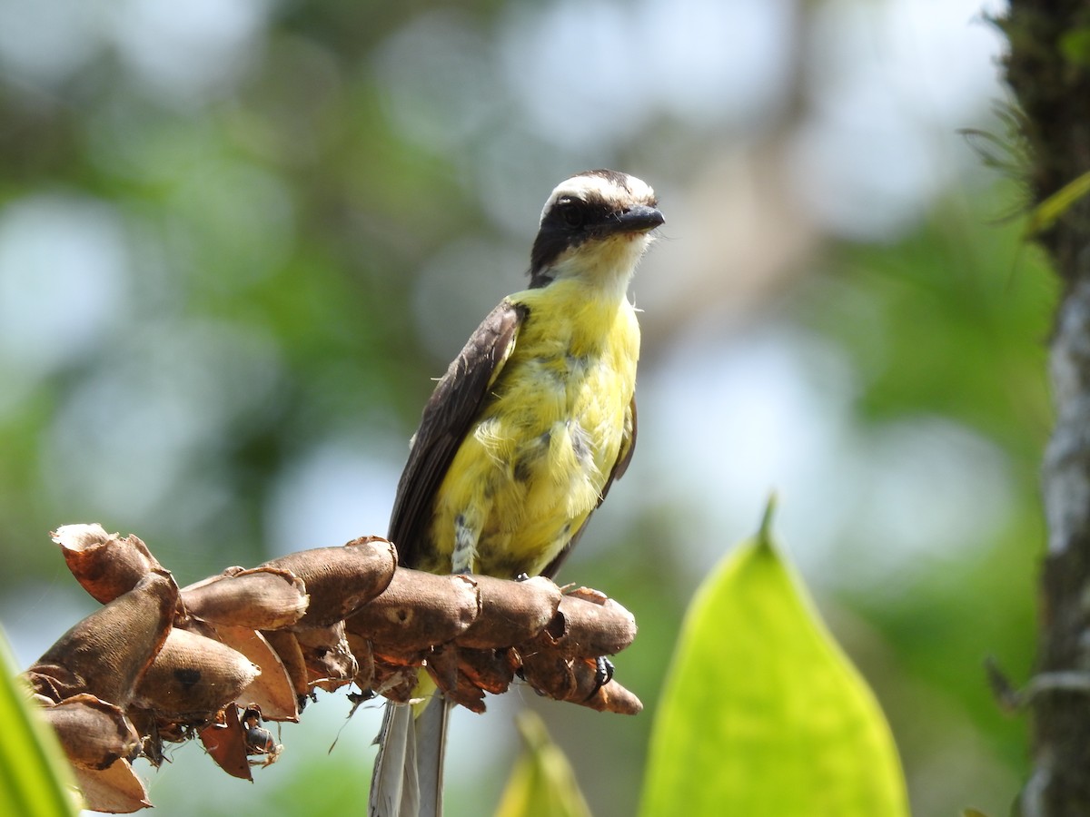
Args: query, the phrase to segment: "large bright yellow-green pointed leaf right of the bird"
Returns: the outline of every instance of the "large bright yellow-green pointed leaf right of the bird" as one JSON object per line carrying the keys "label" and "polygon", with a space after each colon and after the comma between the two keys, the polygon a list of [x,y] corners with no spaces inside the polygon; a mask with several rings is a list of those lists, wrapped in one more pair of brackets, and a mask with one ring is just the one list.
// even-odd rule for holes
{"label": "large bright yellow-green pointed leaf right of the bird", "polygon": [[641,815],[907,817],[885,718],[773,547],[771,515],[689,609]]}

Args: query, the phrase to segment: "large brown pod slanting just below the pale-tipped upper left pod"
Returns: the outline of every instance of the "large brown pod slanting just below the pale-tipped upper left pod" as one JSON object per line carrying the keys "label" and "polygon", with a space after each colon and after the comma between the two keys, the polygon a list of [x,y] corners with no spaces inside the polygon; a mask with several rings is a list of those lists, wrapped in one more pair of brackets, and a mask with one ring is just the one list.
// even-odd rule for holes
{"label": "large brown pod slanting just below the pale-tipped upper left pod", "polygon": [[170,632],[178,586],[149,573],[62,635],[27,671],[36,692],[60,702],[80,693],[124,708]]}

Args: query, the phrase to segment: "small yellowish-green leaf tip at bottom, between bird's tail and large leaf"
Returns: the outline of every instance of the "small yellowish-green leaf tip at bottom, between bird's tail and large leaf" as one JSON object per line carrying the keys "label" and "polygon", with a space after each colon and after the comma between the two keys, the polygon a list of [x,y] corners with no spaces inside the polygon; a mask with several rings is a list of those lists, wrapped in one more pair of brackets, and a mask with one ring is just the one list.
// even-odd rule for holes
{"label": "small yellowish-green leaf tip at bottom, between bird's tail and large leaf", "polygon": [[541,718],[519,715],[522,755],[514,764],[496,817],[591,817],[576,775]]}

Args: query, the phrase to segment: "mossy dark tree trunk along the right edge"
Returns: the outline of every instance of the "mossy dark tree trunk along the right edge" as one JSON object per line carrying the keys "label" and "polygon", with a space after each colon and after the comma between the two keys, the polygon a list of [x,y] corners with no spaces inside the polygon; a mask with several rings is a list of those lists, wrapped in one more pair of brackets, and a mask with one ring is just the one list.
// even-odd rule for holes
{"label": "mossy dark tree trunk along the right edge", "polygon": [[[1090,171],[1090,2],[1012,0],[1001,25],[1036,207]],[[1031,699],[1033,769],[1021,814],[1075,817],[1090,815],[1090,197],[1038,237],[1063,290],[1050,347],[1056,422],[1042,470],[1049,542]]]}

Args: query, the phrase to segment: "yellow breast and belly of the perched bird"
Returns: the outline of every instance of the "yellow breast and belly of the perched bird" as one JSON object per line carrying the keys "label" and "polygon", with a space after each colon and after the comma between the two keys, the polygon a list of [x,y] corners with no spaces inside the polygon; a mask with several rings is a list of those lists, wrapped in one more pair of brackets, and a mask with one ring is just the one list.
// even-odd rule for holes
{"label": "yellow breast and belly of the perched bird", "polygon": [[556,282],[512,296],[530,313],[436,495],[424,569],[535,575],[598,504],[626,434],[640,336],[627,298],[588,294]]}

